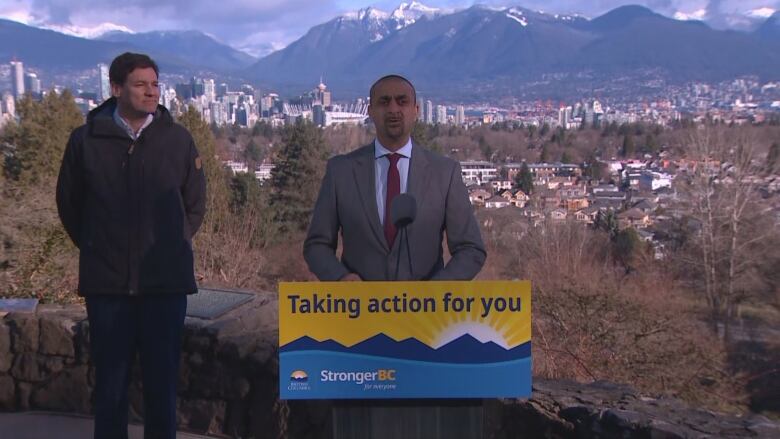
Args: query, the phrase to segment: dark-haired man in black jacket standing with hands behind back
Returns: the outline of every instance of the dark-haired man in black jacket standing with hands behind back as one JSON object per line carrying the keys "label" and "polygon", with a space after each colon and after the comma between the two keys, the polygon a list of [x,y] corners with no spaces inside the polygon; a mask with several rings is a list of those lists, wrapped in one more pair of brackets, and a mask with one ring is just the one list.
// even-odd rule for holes
{"label": "dark-haired man in black jacket standing with hands behind back", "polygon": [[187,130],[158,105],[158,68],[125,53],[113,97],[70,136],[57,208],[79,248],[95,366],[95,438],[127,437],[127,388],[140,354],[146,438],[176,435],[176,383],[187,294],[197,292],[192,237],[206,180]]}

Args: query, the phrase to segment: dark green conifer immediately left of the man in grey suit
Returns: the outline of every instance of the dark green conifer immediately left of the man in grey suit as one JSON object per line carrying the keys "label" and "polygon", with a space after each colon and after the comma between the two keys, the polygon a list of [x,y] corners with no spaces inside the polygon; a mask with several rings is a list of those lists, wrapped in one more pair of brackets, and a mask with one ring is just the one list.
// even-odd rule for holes
{"label": "dark green conifer immediately left of the man in grey suit", "polygon": [[284,128],[282,144],[271,173],[269,209],[280,235],[285,235],[306,230],[328,149],[321,130],[304,120]]}

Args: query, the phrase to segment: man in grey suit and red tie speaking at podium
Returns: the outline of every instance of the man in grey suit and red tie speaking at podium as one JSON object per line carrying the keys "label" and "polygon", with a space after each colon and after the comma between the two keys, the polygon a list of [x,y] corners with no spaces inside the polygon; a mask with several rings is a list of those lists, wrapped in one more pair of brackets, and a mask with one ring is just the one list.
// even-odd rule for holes
{"label": "man in grey suit and red tie speaking at podium", "polygon": [[328,161],[304,242],[309,269],[322,281],[473,279],[485,247],[459,163],[411,139],[419,107],[409,80],[384,76],[369,96],[376,139]]}

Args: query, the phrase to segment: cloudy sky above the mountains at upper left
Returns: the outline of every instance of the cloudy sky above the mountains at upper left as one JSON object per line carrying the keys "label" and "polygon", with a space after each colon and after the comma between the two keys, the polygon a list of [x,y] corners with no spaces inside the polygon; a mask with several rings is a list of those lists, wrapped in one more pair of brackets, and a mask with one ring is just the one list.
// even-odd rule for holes
{"label": "cloudy sky above the mountains at upper left", "polygon": [[337,15],[335,0],[16,0],[0,16],[27,24],[94,36],[107,23],[137,32],[200,30],[218,40],[256,47],[286,45],[311,26]]}

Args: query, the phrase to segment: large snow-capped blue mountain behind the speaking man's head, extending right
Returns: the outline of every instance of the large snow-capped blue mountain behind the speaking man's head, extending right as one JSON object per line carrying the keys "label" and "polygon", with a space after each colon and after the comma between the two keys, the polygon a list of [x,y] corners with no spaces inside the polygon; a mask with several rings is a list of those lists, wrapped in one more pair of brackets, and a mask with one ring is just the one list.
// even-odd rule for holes
{"label": "large snow-capped blue mountain behind the speaking man's head, extending right", "polygon": [[582,71],[626,76],[655,70],[667,72],[670,80],[709,80],[768,75],[772,66],[780,67],[780,51],[755,35],[715,30],[641,6],[589,20],[522,7],[438,11],[411,3],[391,13],[363,10],[316,26],[258,61],[250,74],[280,85],[314,84],[324,74],[332,86],[354,90],[388,73],[439,87]]}

